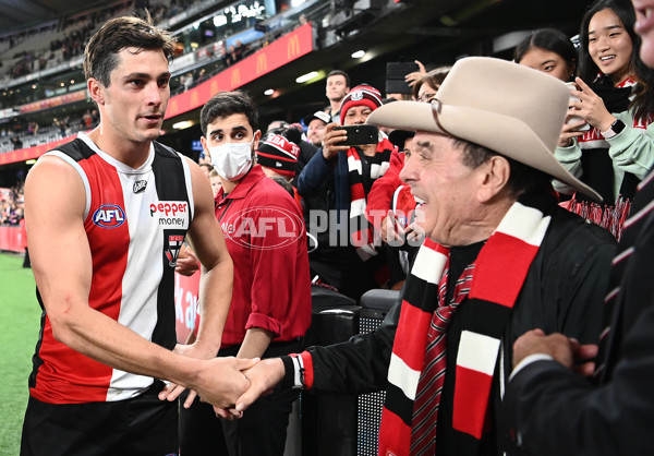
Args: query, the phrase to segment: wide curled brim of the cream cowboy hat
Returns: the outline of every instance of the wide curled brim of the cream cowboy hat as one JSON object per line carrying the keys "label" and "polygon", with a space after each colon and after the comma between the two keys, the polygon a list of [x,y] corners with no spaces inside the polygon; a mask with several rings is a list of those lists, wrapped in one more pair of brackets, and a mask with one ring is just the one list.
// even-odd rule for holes
{"label": "wide curled brim of the cream cowboy hat", "polygon": [[[438,112],[435,111],[437,108]],[[438,122],[435,116],[438,116]],[[367,123],[447,134],[470,141],[543,171],[581,193],[602,201],[597,192],[561,166],[526,123],[514,117],[463,106],[397,101],[377,108],[367,118]]]}

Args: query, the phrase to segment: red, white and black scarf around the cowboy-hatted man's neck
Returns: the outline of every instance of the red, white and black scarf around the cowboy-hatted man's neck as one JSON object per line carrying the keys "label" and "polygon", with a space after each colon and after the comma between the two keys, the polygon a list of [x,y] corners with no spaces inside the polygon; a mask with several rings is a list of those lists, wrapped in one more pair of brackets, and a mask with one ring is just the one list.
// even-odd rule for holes
{"label": "red, white and black scarf around the cowboy-hatted man's neck", "polygon": [[[511,206],[474,262],[467,305],[475,308],[477,317],[461,333],[452,425],[477,440],[482,436],[501,334],[550,220],[546,215],[552,207],[549,200],[529,205],[525,200],[521,197]],[[388,369],[379,455],[410,454],[413,403],[448,257],[447,248],[426,239],[407,279]]]}

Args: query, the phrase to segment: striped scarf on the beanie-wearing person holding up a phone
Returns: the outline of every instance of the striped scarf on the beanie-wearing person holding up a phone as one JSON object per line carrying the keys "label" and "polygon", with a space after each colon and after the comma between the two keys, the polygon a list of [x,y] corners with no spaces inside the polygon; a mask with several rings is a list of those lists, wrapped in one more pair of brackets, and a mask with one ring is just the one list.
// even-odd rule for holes
{"label": "striped scarf on the beanie-wearing person holding up a phone", "polygon": [[[388,169],[393,145],[387,139],[377,144],[375,155],[370,157],[371,181],[375,181]],[[348,149],[348,182],[350,183],[350,227],[352,245],[361,260],[366,261],[377,254],[373,243],[373,229],[365,218],[366,194],[363,188],[361,157],[354,147]]]}

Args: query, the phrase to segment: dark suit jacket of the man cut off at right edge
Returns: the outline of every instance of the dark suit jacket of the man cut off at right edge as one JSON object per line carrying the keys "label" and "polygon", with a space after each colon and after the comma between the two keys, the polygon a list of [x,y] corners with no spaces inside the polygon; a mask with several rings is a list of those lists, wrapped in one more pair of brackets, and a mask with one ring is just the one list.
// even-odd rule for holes
{"label": "dark suit jacket of the man cut off at right edge", "polygon": [[510,454],[654,453],[654,175],[644,181],[620,241],[633,253],[618,277],[607,371],[598,386],[555,361],[519,371],[502,405]]}

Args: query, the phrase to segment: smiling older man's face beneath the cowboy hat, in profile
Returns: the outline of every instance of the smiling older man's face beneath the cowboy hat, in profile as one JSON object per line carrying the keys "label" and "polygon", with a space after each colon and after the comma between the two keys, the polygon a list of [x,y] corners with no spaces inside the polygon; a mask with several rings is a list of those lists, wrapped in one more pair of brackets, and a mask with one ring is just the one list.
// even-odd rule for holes
{"label": "smiling older man's face beneath the cowboy hat, in profile", "polygon": [[411,193],[424,201],[416,220],[422,218],[425,235],[444,245],[470,243],[480,216],[475,196],[483,172],[463,165],[462,157],[449,136],[417,132],[400,173]]}

